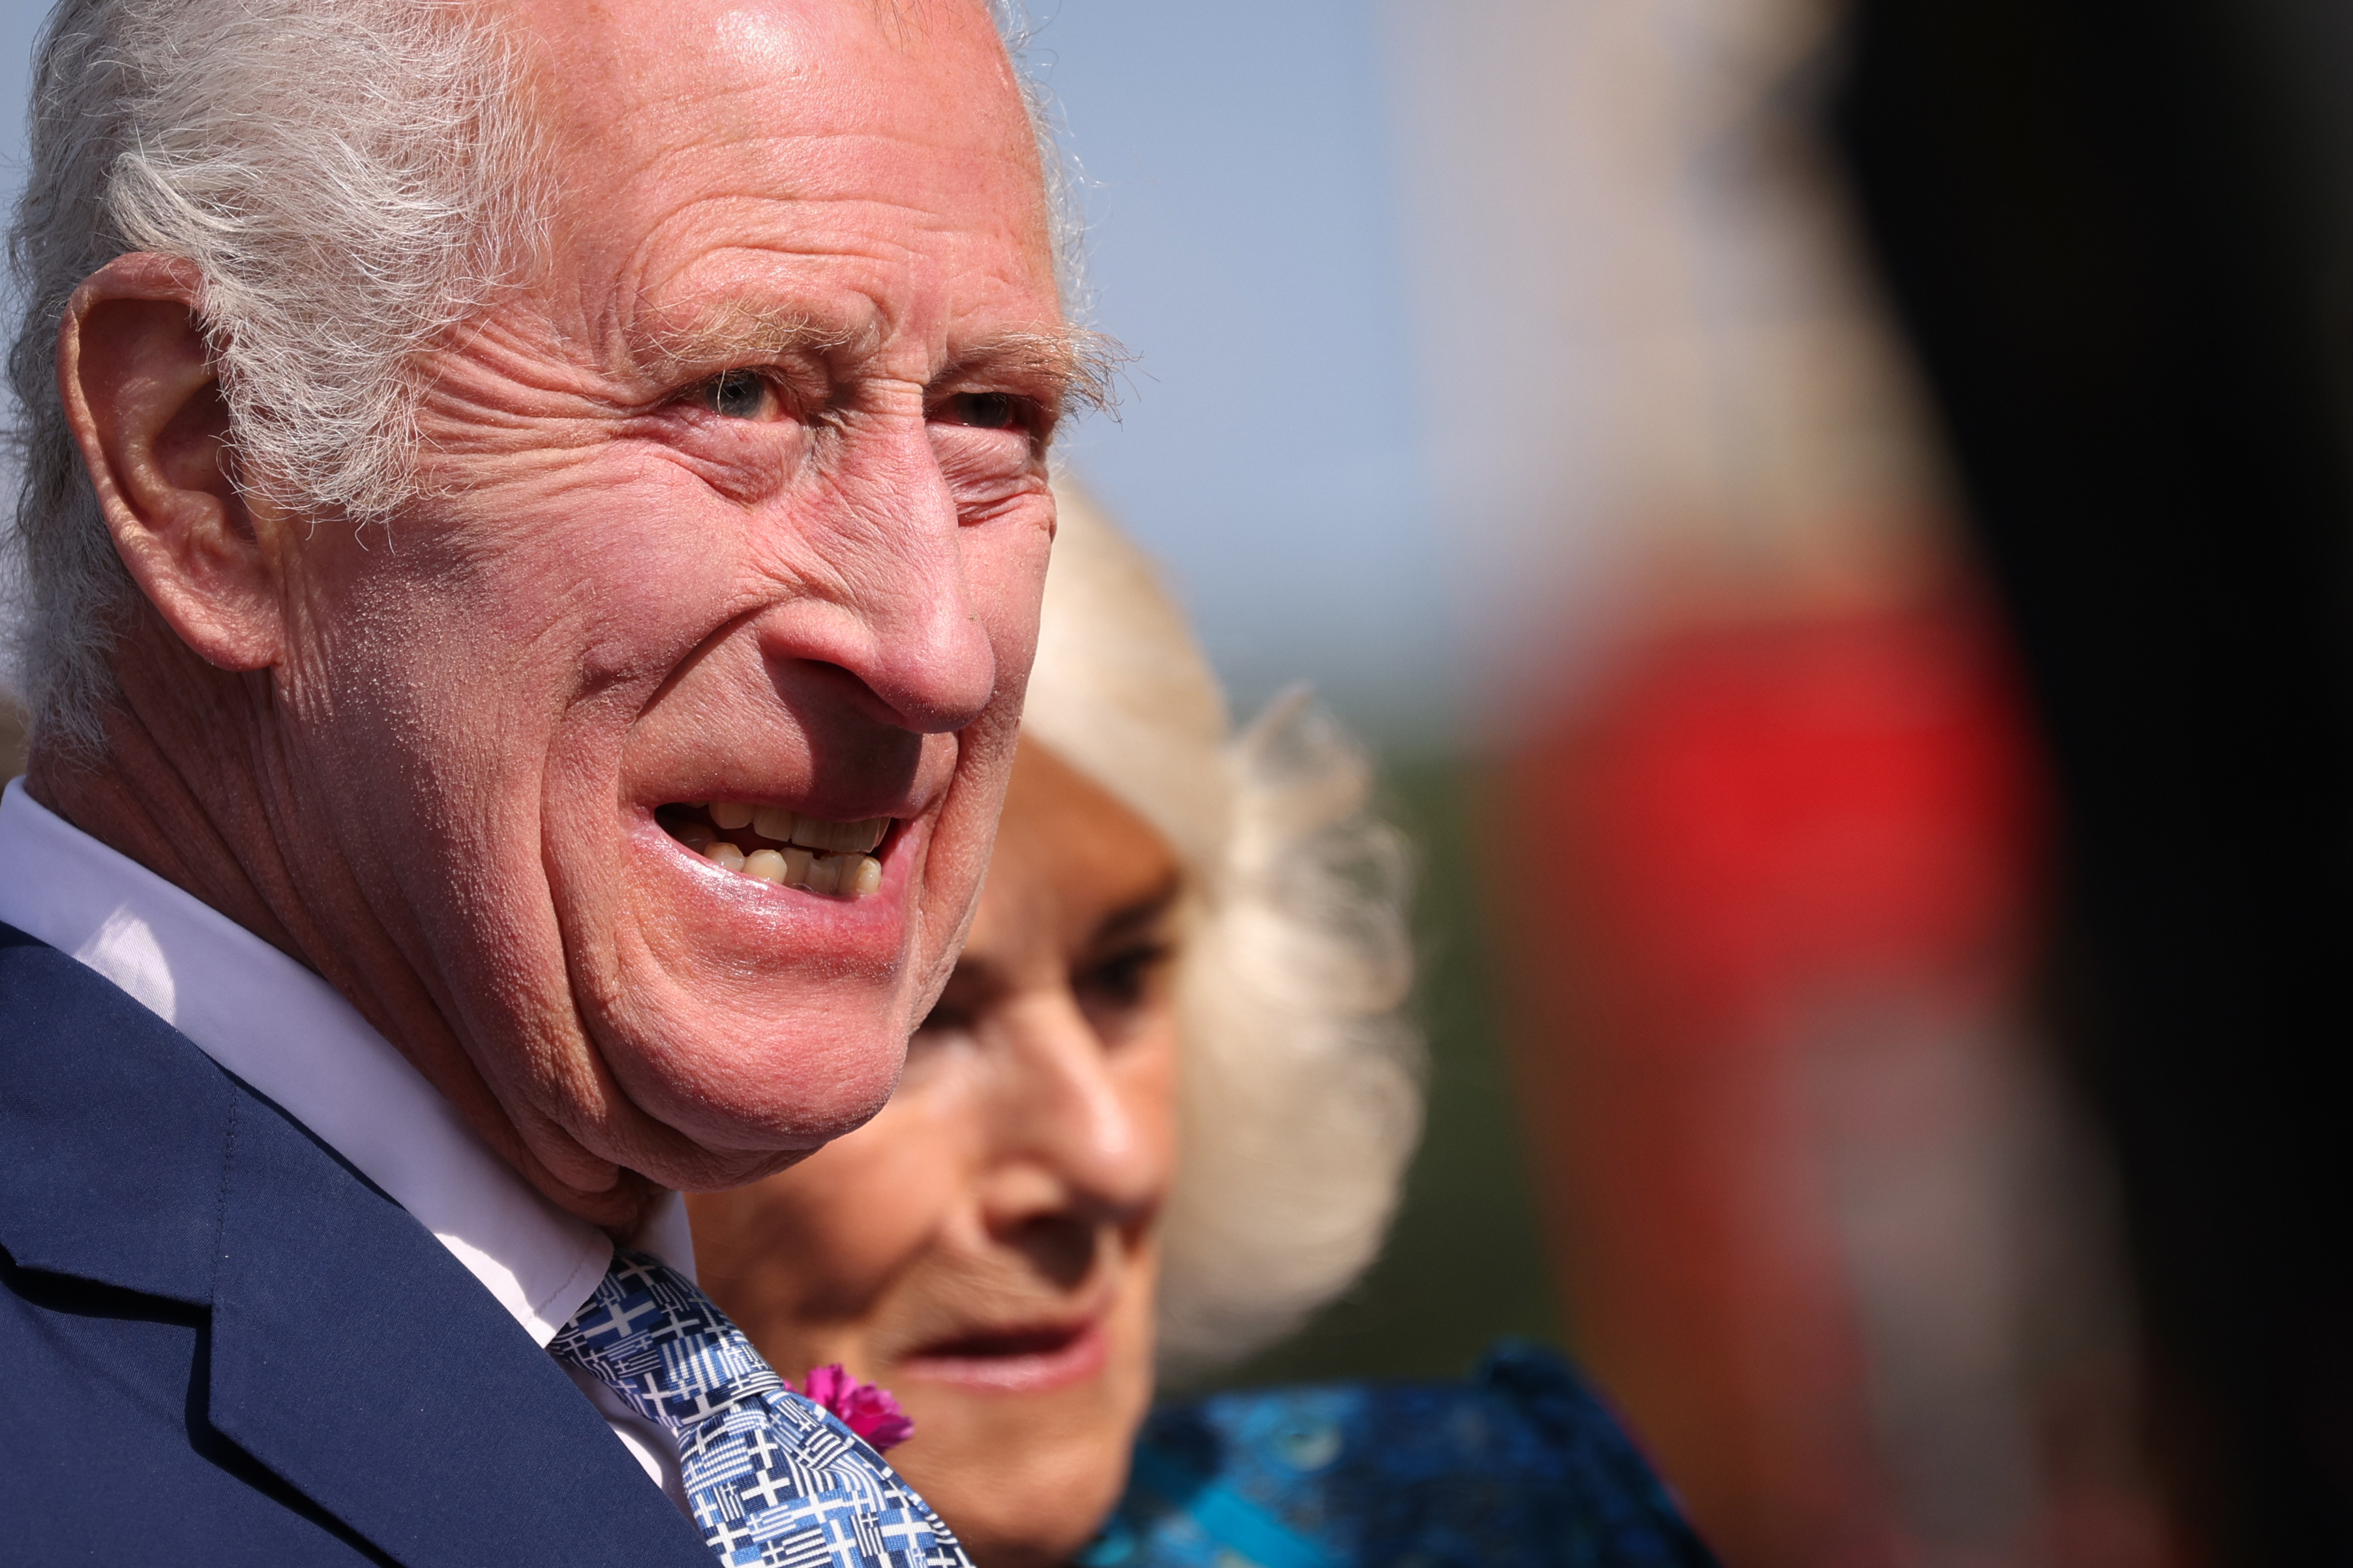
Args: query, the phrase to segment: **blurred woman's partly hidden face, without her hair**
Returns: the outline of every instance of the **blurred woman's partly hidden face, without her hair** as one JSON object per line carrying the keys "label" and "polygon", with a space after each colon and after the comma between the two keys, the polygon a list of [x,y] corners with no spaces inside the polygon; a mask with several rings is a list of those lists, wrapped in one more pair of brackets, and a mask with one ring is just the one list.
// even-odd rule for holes
{"label": "blurred woman's partly hidden face, without her hair", "polygon": [[689,1199],[704,1288],[788,1378],[845,1363],[984,1568],[1061,1563],[1151,1401],[1174,1159],[1167,844],[1021,748],[955,976],[889,1107],[802,1166]]}

